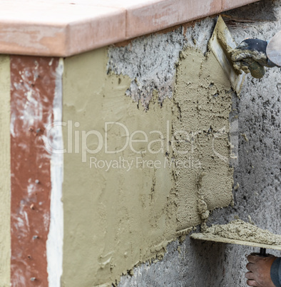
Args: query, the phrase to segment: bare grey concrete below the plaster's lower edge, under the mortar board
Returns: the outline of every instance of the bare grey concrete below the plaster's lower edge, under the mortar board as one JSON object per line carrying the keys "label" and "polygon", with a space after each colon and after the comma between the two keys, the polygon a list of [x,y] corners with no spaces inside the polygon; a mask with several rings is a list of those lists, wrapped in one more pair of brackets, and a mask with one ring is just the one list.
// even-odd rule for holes
{"label": "bare grey concrete below the plaster's lower edge, under the mortar board", "polygon": [[244,277],[238,278],[235,283],[225,283],[226,276],[230,280],[237,269],[245,266],[245,256],[240,258],[240,263],[233,265],[232,256],[237,248],[240,247],[232,245],[227,248],[223,243],[191,241],[190,238],[183,243],[174,241],[169,244],[162,261],[134,268],[133,276],[121,277],[118,286],[244,286]]}

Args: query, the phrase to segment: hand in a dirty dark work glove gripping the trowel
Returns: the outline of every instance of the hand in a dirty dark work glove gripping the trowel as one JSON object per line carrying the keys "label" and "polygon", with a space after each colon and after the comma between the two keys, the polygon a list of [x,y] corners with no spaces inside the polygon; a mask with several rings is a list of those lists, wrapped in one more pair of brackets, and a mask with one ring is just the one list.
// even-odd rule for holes
{"label": "hand in a dirty dark work glove gripping the trowel", "polygon": [[245,71],[256,79],[265,75],[265,66],[272,67],[275,64],[267,58],[267,41],[260,39],[245,39],[232,52],[231,59],[236,71]]}

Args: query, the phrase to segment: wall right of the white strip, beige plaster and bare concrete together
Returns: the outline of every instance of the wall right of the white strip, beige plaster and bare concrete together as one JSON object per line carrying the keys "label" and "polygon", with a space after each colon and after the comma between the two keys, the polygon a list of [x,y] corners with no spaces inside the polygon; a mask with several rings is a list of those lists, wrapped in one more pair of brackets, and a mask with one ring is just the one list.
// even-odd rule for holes
{"label": "wall right of the white strip, beige plaster and bare concrete together", "polygon": [[[247,36],[270,39],[278,31],[279,7],[280,1],[261,1],[242,12],[230,11],[225,19],[237,43]],[[157,145],[155,153],[147,152],[145,141],[136,145],[141,160],[188,162],[193,157],[194,162],[189,168],[145,165],[140,170],[135,166],[138,155],[126,148],[121,160],[133,161],[134,166],[126,171],[118,168],[118,153],[101,148],[91,155],[101,141],[96,136],[89,137],[88,152],[82,147],[66,153],[65,286],[118,284],[121,273],[128,275],[121,277],[120,286],[243,286],[245,253],[253,248],[190,241],[185,239],[190,228],[207,219],[210,225],[239,217],[280,232],[280,195],[268,176],[272,172],[277,181],[278,134],[272,126],[278,128],[279,111],[276,103],[266,110],[267,99],[273,105],[279,96],[279,71],[268,71],[262,80],[247,76],[238,97],[207,51],[215,21],[216,17],[203,19],[66,59],[63,120],[79,123],[73,131],[83,135],[95,129],[103,137],[104,123],[118,121],[130,133],[166,132],[165,144],[173,140],[159,153]],[[77,72],[83,81],[76,81]],[[269,121],[275,114],[273,125],[266,126],[259,104]],[[109,150],[121,149],[126,139],[115,129],[109,132]],[[138,134],[136,139],[144,138]],[[255,152],[263,156],[259,159]],[[116,161],[116,168],[108,166],[106,171],[103,161]],[[264,193],[270,213],[260,203]],[[229,207],[216,209],[208,218],[214,208],[225,206]]]}

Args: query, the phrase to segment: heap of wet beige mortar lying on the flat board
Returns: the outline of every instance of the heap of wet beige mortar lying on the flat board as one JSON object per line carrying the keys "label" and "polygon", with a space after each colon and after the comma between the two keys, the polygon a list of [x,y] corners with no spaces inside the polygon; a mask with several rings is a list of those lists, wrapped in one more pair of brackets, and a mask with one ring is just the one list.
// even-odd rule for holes
{"label": "heap of wet beige mortar lying on the flat board", "polygon": [[224,225],[215,224],[210,226],[205,231],[205,236],[208,236],[208,234],[241,241],[264,243],[268,245],[281,244],[281,235],[273,234],[270,231],[263,230],[240,219],[231,221],[230,223]]}

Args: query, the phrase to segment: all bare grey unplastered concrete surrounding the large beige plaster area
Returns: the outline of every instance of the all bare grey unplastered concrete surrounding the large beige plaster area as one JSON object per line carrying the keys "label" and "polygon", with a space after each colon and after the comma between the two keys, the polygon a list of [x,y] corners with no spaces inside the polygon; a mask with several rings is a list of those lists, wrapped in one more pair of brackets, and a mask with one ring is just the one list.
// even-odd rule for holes
{"label": "all bare grey unplastered concrete surrounding the large beige plaster area", "polygon": [[[225,14],[237,43],[247,37],[268,40],[281,29],[281,1],[259,1]],[[134,79],[126,93],[149,109],[154,89],[159,91],[160,103],[173,97],[179,52],[188,46],[205,53],[214,25],[215,19],[203,19],[190,27],[112,47],[108,71]],[[280,93],[277,68],[267,69],[262,79],[247,75],[240,97],[233,93],[230,139],[237,158],[230,163],[234,167],[234,202],[213,211],[208,226],[240,218],[281,234]],[[186,236],[170,243],[161,261],[143,263],[121,276],[118,286],[247,286],[245,256],[253,251],[257,248],[194,241]],[[267,252],[280,256],[279,251]]]}

